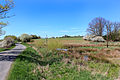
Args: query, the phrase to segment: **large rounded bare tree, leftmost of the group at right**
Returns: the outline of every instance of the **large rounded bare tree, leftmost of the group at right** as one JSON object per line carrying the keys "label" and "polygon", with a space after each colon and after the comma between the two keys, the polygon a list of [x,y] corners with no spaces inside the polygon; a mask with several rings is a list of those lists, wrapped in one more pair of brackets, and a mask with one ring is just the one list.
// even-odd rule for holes
{"label": "large rounded bare tree, leftmost of the group at right", "polygon": [[94,18],[90,23],[87,31],[92,35],[103,36],[106,20],[102,17]]}

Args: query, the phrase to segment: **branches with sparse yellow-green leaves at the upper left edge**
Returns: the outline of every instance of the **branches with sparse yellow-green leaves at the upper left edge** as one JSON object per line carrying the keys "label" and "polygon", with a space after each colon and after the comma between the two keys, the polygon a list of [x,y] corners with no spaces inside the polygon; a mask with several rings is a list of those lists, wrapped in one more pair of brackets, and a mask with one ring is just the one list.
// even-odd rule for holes
{"label": "branches with sparse yellow-green leaves at the upper left edge", "polygon": [[[14,7],[13,0],[1,0],[0,1],[0,20],[4,18],[9,18],[8,12]],[[0,22],[0,36],[5,33],[5,31],[2,30],[3,27],[5,27],[7,23]]]}

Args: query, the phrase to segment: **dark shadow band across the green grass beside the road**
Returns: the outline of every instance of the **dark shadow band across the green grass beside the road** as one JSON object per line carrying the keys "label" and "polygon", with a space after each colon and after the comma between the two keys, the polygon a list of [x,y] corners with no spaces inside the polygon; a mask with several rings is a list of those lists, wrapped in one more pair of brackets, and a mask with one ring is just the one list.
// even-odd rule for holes
{"label": "dark shadow band across the green grass beside the road", "polygon": [[28,61],[30,63],[39,64],[41,66],[46,66],[48,64],[52,65],[53,63],[59,62],[62,59],[61,57],[56,58],[50,55],[50,59],[46,60],[48,58],[48,55],[42,58],[40,55],[37,55],[31,51],[28,51],[28,52],[24,51],[24,53],[19,55],[17,59],[19,59],[20,61]]}

